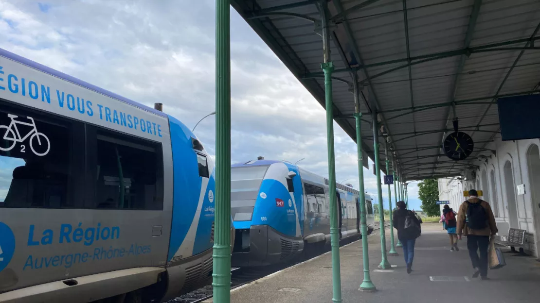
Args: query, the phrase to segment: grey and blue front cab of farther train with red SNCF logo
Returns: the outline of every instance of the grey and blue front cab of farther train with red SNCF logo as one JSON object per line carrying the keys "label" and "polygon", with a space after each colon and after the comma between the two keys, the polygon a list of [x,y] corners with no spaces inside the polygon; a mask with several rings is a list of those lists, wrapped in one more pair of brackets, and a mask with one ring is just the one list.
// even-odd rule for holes
{"label": "grey and blue front cab of farther train with red SNCF logo", "polygon": [[267,160],[234,164],[232,266],[271,265],[301,254],[302,203],[302,184],[295,166]]}

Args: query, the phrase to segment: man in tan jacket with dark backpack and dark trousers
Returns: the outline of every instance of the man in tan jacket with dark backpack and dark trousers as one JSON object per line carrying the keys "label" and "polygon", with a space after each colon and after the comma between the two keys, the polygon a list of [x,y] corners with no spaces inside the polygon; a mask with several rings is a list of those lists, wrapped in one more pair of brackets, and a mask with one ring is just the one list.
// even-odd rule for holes
{"label": "man in tan jacket with dark backpack and dark trousers", "polygon": [[[457,214],[457,236],[467,236],[469,257],[473,263],[473,278],[480,274],[482,280],[488,278],[489,237],[495,236],[497,224],[488,202],[478,199],[476,190],[469,190],[469,199],[460,206]],[[480,258],[478,253],[480,251]]]}

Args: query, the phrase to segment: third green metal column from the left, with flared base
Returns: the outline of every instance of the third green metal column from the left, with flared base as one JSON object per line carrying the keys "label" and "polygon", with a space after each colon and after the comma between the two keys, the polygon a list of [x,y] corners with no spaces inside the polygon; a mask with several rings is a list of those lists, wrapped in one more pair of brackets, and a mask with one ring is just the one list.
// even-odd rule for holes
{"label": "third green metal column from the left, with flared base", "polygon": [[356,80],[356,73],[354,74],[354,101],[356,104],[356,113],[354,118],[356,120],[356,152],[358,153],[358,180],[359,180],[359,203],[360,203],[360,229],[362,231],[362,259],[364,280],[360,284],[360,290],[362,291],[376,291],[376,287],[369,277],[369,249],[368,249],[368,228],[366,222],[366,193],[364,192],[364,168],[362,166],[363,153],[362,153],[362,131],[361,131],[361,118],[360,113],[360,98],[358,91],[358,81]]}

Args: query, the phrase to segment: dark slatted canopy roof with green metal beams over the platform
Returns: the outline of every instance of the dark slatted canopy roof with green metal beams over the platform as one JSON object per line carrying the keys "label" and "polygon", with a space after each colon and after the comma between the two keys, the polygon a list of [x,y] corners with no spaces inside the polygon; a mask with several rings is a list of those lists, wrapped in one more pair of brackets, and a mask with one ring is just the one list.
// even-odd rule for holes
{"label": "dark slatted canopy roof with green metal beams over the platform", "polygon": [[[316,1],[231,3],[325,106]],[[496,100],[540,92],[538,0],[333,0],[328,13],[334,119],[356,141],[356,77],[363,148],[374,159],[376,111],[384,126],[379,141],[384,132],[406,180],[456,176],[491,154],[486,147],[500,131]],[[457,162],[441,150],[454,115],[475,142],[473,154]],[[381,155],[384,161],[384,148]]]}

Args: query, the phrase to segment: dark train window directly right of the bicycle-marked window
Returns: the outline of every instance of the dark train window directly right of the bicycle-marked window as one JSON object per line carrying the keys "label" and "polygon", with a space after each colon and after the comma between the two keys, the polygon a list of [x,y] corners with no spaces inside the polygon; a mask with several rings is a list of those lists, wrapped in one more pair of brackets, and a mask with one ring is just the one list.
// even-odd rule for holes
{"label": "dark train window directly right of the bicycle-marked window", "polygon": [[163,209],[163,158],[157,143],[97,135],[95,208]]}

